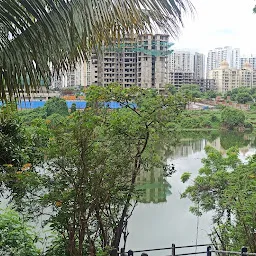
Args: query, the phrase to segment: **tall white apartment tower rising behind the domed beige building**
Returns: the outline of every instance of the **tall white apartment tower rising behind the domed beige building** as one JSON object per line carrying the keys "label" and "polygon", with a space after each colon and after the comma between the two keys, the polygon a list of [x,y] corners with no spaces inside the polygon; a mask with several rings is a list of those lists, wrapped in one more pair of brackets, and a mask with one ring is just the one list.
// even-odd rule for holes
{"label": "tall white apartment tower rising behind the domed beige building", "polygon": [[224,48],[215,48],[208,52],[207,74],[210,70],[217,69],[221,62],[226,61],[231,68],[240,68],[240,49],[232,49],[230,46]]}

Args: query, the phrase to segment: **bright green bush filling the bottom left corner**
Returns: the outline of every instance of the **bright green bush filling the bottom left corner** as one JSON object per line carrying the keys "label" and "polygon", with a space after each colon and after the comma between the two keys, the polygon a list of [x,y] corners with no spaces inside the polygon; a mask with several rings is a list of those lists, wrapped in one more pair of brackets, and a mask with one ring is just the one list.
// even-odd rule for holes
{"label": "bright green bush filling the bottom left corner", "polygon": [[39,256],[33,229],[13,210],[0,211],[0,254]]}

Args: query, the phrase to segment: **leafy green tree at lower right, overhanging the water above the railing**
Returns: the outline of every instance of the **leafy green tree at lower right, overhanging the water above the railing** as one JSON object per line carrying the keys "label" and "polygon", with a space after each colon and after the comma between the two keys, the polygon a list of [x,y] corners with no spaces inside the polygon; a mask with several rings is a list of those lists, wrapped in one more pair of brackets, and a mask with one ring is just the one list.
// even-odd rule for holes
{"label": "leafy green tree at lower right, overhanging the water above the railing", "polygon": [[207,158],[199,175],[183,193],[189,197],[195,214],[213,212],[212,242],[223,250],[248,246],[256,252],[255,240],[255,155],[247,163],[239,160],[237,148],[220,152],[206,147]]}

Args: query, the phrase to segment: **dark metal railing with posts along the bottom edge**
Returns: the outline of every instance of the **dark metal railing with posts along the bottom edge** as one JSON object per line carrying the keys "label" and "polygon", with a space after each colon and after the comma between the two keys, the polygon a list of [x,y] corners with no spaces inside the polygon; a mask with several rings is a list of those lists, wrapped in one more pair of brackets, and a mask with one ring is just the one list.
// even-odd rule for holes
{"label": "dark metal railing with posts along the bottom edge", "polygon": [[[186,253],[176,253],[176,250],[178,249],[186,249],[186,248],[198,248],[198,247],[206,247],[205,250],[201,251],[195,251],[195,252],[186,252]],[[166,251],[170,250],[171,254],[167,254],[165,256],[187,256],[187,255],[197,255],[197,254],[205,254],[206,256],[212,256],[212,253],[218,254],[218,255],[232,255],[237,254],[240,256],[256,256],[256,253],[249,253],[248,249],[246,247],[243,247],[240,252],[236,251],[224,251],[224,250],[215,250],[212,249],[211,244],[199,244],[199,245],[185,245],[185,246],[175,246],[175,244],[172,244],[171,247],[165,247],[165,248],[153,248],[153,249],[145,249],[145,250],[129,250],[125,252],[124,249],[121,249],[121,251],[117,249],[113,249],[110,251],[110,256],[134,256],[135,254],[141,253],[141,256],[150,256],[150,252],[155,251]]]}

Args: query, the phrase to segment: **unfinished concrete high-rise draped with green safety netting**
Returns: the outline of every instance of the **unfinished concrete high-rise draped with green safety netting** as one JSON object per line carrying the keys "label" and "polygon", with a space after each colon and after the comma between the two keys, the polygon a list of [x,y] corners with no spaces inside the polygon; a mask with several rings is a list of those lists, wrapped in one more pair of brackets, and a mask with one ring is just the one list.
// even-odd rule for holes
{"label": "unfinished concrete high-rise draped with green safety netting", "polygon": [[87,85],[118,82],[124,87],[162,90],[167,83],[167,56],[172,53],[169,36],[127,36],[120,43],[92,54],[87,65]]}

